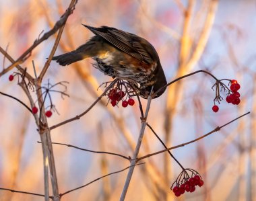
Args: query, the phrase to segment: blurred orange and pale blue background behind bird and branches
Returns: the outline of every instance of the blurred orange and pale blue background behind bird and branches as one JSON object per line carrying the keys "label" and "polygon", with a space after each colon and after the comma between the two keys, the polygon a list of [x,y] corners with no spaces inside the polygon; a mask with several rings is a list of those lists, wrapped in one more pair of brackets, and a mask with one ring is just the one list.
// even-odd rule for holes
{"label": "blurred orange and pale blue background behind bird and branches", "polygon": [[[53,28],[69,5],[67,0],[0,1],[0,46],[18,58],[42,33]],[[186,143],[237,116],[251,114],[222,128],[207,138],[172,151],[179,162],[198,171],[205,185],[192,194],[174,198],[170,186],[181,167],[167,154],[155,155],[135,167],[126,200],[256,200],[256,2],[253,0],[83,0],[67,20],[57,54],[84,44],[93,36],[81,24],[112,26],[150,41],[160,56],[168,81],[205,69],[218,79],[237,79],[241,84],[241,104],[221,102],[212,112],[214,80],[203,73],[171,85],[152,101],[148,123],[167,147]],[[39,74],[55,42],[51,36],[22,63]],[[98,86],[111,81],[92,67],[92,60],[61,67],[54,61],[43,83],[68,81],[61,98],[52,94],[53,126],[86,110],[102,92]],[[11,63],[0,55],[1,71]],[[0,91],[19,97],[29,105],[17,79],[8,72],[0,78]],[[226,94],[221,93],[224,99]],[[36,99],[34,99],[36,102]],[[55,143],[132,156],[139,134],[138,103],[133,107],[106,106],[104,97],[86,116],[51,132]],[[46,103],[47,104],[47,103]],[[146,107],[146,100],[142,101]],[[34,117],[15,100],[0,96],[0,188],[44,194],[42,149],[37,143]],[[87,184],[107,173],[129,166],[129,161],[113,155],[79,151],[53,145],[59,191]],[[162,150],[154,134],[146,128],[139,155]],[[119,200],[127,171],[66,194],[61,200]],[[38,196],[0,190],[0,200],[44,200]]]}

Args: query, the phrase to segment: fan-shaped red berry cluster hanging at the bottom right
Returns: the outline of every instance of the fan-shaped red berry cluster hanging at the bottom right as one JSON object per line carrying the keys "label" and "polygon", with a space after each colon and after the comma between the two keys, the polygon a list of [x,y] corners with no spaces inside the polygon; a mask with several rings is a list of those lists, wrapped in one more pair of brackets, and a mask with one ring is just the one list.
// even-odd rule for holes
{"label": "fan-shaped red berry cluster hanging at the bottom right", "polygon": [[[189,172],[191,176],[189,176]],[[176,184],[174,186],[174,184]],[[183,169],[183,171],[179,174],[176,181],[172,184],[174,186],[171,187],[170,190],[174,192],[174,195],[179,197],[185,192],[194,192],[196,186],[203,186],[204,182],[201,179],[201,175],[193,169]]]}

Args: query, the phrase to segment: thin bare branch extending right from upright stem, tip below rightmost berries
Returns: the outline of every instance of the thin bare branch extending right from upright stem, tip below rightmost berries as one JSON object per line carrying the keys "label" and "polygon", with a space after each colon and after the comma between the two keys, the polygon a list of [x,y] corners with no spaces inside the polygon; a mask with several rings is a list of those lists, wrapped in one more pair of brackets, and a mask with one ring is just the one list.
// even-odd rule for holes
{"label": "thin bare branch extending right from upright stem, tip below rightmost berries", "polygon": [[189,141],[189,142],[187,142],[187,143],[183,143],[183,144],[181,144],[181,145],[177,145],[177,146],[174,146],[174,147],[170,147],[170,148],[168,148],[168,149],[164,149],[164,150],[161,150],[161,151],[157,151],[157,152],[155,152],[155,153],[150,153],[150,154],[145,155],[145,156],[143,156],[143,157],[137,158],[137,161],[140,161],[140,160],[142,160],[142,159],[146,159],[146,158],[148,158],[148,157],[152,157],[152,156],[154,156],[154,155],[158,155],[158,154],[160,154],[160,153],[164,153],[164,152],[166,152],[166,151],[168,151],[168,150],[177,149],[177,148],[179,148],[179,147],[184,147],[185,145],[189,145],[189,144],[191,144],[191,143],[195,143],[196,141],[201,140],[202,138],[205,138],[205,136],[208,136],[208,135],[210,135],[210,134],[212,134],[212,133],[214,133],[214,132],[219,131],[219,130],[220,130],[221,128],[223,128],[224,126],[227,126],[228,124],[231,124],[232,122],[238,120],[239,118],[242,118],[243,116],[246,116],[247,114],[250,114],[250,112],[247,112],[247,113],[245,113],[245,114],[243,114],[243,115],[241,115],[241,116],[238,116],[238,118],[235,118],[234,120],[232,120],[232,121],[230,121],[230,122],[228,122],[228,123],[226,123],[226,124],[224,124],[224,125],[222,125],[222,126],[216,127],[214,130],[208,132],[207,134],[204,134],[203,136],[200,136],[199,138],[195,138],[195,140],[191,140],[191,141]]}

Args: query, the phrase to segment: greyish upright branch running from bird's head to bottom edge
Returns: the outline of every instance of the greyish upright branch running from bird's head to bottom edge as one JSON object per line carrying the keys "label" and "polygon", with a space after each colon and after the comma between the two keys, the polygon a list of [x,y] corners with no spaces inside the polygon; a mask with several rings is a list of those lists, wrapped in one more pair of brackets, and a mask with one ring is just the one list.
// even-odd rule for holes
{"label": "greyish upright branch running from bird's head to bottom edge", "polygon": [[130,163],[131,166],[129,168],[129,172],[128,172],[128,175],[126,177],[125,186],[123,187],[123,192],[121,194],[120,200],[125,200],[125,196],[127,194],[127,190],[128,190],[129,184],[131,182],[131,176],[133,175],[133,170],[134,170],[135,164],[137,163],[137,156],[139,155],[139,149],[140,149],[143,134],[144,134],[144,131],[145,131],[145,128],[146,128],[146,125],[147,125],[146,120],[148,118],[148,112],[150,110],[150,104],[151,104],[151,100],[152,100],[152,96],[151,96],[152,91],[150,93],[150,96],[148,97],[148,104],[147,104],[147,108],[146,108],[144,118],[141,118],[141,128],[140,128],[140,131],[139,131],[139,137],[138,137],[138,140],[137,140],[137,145],[136,145],[135,151],[133,153],[133,159],[131,159],[131,163]]}

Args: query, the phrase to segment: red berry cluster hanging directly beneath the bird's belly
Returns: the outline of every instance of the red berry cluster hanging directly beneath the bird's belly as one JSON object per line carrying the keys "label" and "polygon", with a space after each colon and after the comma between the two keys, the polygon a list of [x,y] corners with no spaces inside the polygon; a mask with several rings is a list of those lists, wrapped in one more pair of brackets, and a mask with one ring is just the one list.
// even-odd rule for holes
{"label": "red berry cluster hanging directly beneath the bird's belly", "polygon": [[119,91],[117,88],[110,89],[108,92],[108,98],[110,99],[110,104],[115,107],[117,104],[122,101],[123,108],[126,108],[128,105],[133,106],[135,104],[135,101],[133,98],[129,97],[128,100],[124,99],[125,97],[125,91]]}

